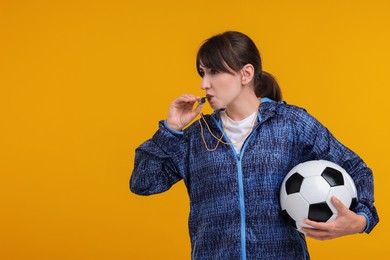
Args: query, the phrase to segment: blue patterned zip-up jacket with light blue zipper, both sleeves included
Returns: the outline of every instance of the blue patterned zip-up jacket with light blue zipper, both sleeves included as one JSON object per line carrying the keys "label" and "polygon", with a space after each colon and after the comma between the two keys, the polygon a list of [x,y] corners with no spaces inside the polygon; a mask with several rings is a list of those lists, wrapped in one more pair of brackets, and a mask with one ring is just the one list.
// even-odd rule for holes
{"label": "blue patterned zip-up jacket with light blue zipper, both sleeves included", "polygon": [[[205,119],[221,136],[218,111]],[[209,147],[216,145],[207,130],[204,137]],[[136,149],[130,189],[151,195],[184,180],[192,259],[309,259],[304,235],[281,217],[279,190],[295,165],[319,159],[350,173],[358,191],[353,210],[366,217],[369,233],[379,220],[371,170],[304,109],[269,99],[261,100],[258,123],[240,154],[224,144],[208,152],[198,122],[176,132],[161,121]]]}

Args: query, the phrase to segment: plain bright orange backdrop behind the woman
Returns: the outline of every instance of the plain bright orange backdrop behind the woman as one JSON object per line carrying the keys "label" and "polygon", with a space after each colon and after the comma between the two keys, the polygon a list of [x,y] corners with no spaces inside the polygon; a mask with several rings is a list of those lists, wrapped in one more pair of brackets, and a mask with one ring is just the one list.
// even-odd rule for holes
{"label": "plain bright orange backdrop behind the woman", "polygon": [[308,240],[312,258],[385,259],[389,13],[386,0],[1,0],[0,259],[190,258],[183,183],[140,197],[128,181],[171,100],[202,95],[196,51],[225,30],[248,34],[285,100],[375,172],[377,228]]}

